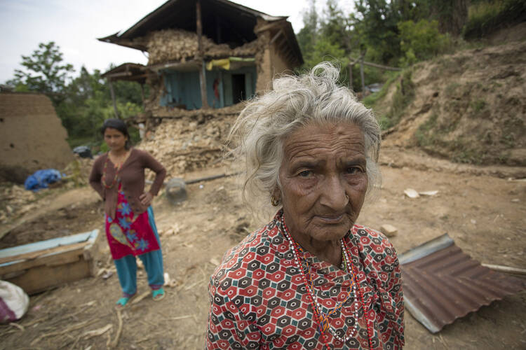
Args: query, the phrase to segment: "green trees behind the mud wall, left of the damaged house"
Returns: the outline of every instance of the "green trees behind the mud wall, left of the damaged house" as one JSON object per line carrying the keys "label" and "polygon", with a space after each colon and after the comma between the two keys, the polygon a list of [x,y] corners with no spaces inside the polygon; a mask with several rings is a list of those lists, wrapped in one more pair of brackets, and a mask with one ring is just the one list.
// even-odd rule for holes
{"label": "green trees behind the mud wall, left of the damaged house", "polygon": [[[71,146],[100,144],[102,123],[105,119],[115,118],[109,85],[99,70],[89,73],[84,66],[79,76],[71,78],[73,66],[63,64],[62,60],[60,48],[53,41],[41,43],[32,55],[22,56],[22,66],[26,71],[15,70],[15,78],[7,83],[18,92],[48,95],[68,132]],[[113,85],[120,118],[142,112],[139,84],[117,81]]]}

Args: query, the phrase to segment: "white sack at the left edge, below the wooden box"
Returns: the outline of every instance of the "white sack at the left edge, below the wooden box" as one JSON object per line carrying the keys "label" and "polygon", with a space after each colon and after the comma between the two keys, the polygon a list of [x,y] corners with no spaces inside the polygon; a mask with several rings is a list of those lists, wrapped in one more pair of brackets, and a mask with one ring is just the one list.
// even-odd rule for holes
{"label": "white sack at the left edge, below the wooden box", "polygon": [[29,297],[19,286],[0,280],[0,323],[22,318],[29,307]]}

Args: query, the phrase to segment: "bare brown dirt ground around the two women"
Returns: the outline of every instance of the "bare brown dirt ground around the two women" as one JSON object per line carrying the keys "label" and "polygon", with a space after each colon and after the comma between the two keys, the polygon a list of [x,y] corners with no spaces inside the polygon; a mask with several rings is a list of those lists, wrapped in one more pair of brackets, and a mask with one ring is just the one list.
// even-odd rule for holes
{"label": "bare brown dirt ground around the two women", "polygon": [[[396,226],[399,233],[391,241],[398,253],[447,232],[480,262],[526,267],[526,181],[494,176],[520,176],[523,169],[457,167],[397,148],[383,150],[381,164],[384,185],[358,223],[375,229],[384,223]],[[409,199],[406,188],[439,192]],[[191,184],[187,190],[189,199],[177,206],[163,195],[154,201],[165,270],[175,286],[166,288],[161,302],[148,295],[121,312],[117,349],[203,349],[208,277],[224,251],[259,225],[238,200],[233,177]],[[46,196],[39,213],[1,239],[0,247],[20,244],[29,235],[45,239],[102,229],[102,202],[90,188],[57,194]],[[97,265],[114,272],[102,243]],[[138,278],[139,294],[149,293],[144,270]],[[119,297],[115,273],[34,295],[20,321],[0,325],[0,349],[105,349],[118,334],[114,303]],[[526,291],[468,314],[437,335],[406,312],[405,349],[526,349],[525,320]]]}

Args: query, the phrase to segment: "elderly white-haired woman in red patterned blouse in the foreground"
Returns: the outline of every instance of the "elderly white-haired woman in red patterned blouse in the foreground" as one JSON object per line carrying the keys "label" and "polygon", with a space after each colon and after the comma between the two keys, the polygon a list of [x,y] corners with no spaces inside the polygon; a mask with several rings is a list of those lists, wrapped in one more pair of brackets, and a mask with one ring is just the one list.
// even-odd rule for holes
{"label": "elderly white-haired woman in red patterned blouse in the foreground", "polygon": [[395,249],[356,224],[379,184],[379,126],[337,78],[327,63],[278,78],[234,125],[243,199],[259,212],[262,201],[281,209],[211,277],[208,349],[404,344]]}

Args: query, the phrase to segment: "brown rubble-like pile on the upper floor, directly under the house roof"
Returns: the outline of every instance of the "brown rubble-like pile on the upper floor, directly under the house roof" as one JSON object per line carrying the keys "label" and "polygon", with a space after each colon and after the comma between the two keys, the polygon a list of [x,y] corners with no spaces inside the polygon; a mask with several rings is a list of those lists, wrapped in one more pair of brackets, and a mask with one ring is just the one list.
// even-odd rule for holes
{"label": "brown rubble-like pile on the upper floor, directly under the house roof", "polygon": [[[154,31],[147,38],[148,64],[163,62],[186,62],[198,56],[198,36],[191,31],[181,29],[166,29]],[[261,50],[259,39],[231,49],[227,44],[216,44],[203,35],[201,38],[203,52],[207,58],[222,58],[229,56],[254,56]]]}

